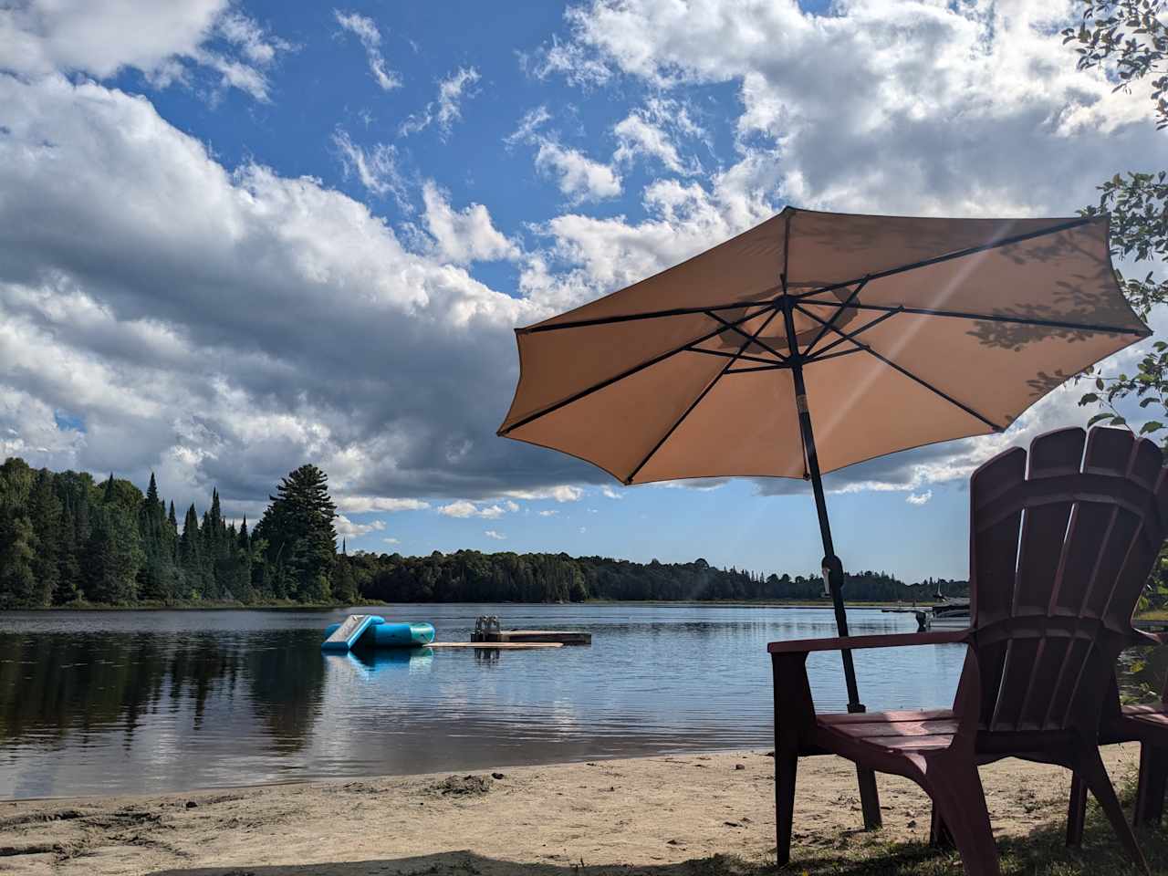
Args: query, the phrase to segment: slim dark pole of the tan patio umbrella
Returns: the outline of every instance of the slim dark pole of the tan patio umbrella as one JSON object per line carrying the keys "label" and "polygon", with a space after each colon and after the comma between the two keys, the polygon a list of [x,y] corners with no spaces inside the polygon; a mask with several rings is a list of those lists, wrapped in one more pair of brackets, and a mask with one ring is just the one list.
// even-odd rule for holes
{"label": "slim dark pole of the tan patio umbrella", "polygon": [[[835,556],[835,544],[832,542],[832,522],[827,516],[827,499],[823,496],[823,475],[819,471],[819,454],[815,452],[815,431],[811,423],[811,411],[807,406],[807,384],[802,376],[802,356],[795,336],[794,314],[791,298],[787,296],[787,278],[783,274],[783,317],[787,329],[788,362],[791,376],[795,384],[795,408],[799,411],[799,431],[802,434],[804,450],[807,454],[807,473],[811,477],[812,493],[815,494],[815,513],[819,515],[819,534],[823,540],[823,575],[827,577],[828,590],[832,593],[832,605],[835,609],[835,626],[840,635],[848,635],[848,613],[843,607],[843,563]],[[856,687],[856,667],[851,652],[844,648],[843,680],[848,686],[848,711],[864,711],[860,702],[860,690]],[[860,781],[860,805],[864,815],[864,828],[872,830],[881,826],[880,792],[876,790],[876,773],[857,766],[856,778]]]}

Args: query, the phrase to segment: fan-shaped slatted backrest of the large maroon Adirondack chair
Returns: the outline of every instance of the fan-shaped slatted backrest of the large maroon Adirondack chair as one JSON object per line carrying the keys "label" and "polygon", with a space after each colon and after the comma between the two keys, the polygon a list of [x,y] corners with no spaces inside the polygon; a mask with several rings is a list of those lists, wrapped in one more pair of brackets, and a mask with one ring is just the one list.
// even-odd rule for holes
{"label": "fan-shaped slatted backrest of the large maroon Adirondack chair", "polygon": [[983,728],[1098,725],[1101,686],[1163,542],[1162,466],[1155,444],[1126,430],[1063,429],[974,473],[971,612]]}

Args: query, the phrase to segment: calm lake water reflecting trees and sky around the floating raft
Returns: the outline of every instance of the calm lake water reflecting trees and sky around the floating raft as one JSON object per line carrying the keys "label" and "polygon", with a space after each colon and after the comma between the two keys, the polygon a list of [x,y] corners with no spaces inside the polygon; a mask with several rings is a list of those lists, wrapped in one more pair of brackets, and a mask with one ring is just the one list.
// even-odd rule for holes
{"label": "calm lake water reflecting trees and sky around the floating raft", "polygon": [[[354,609],[354,612],[361,611]],[[398,605],[466,641],[585,630],[588,647],[326,656],[340,611],[0,614],[0,798],[167,792],[355,776],[770,748],[766,642],[834,634],[827,610],[704,605]],[[911,614],[849,611],[857,634]],[[962,646],[856,652],[869,709],[947,708]],[[816,705],[842,709],[836,653]]]}

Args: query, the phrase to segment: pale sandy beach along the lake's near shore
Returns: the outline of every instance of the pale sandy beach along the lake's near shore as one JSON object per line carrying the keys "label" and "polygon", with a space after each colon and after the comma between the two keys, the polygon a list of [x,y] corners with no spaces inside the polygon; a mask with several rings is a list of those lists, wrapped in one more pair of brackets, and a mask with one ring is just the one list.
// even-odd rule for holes
{"label": "pale sandy beach along the lake's near shore", "polygon": [[[1117,783],[1134,774],[1138,753],[1105,750]],[[773,853],[772,763],[753,751],[4,802],[0,872],[491,876],[583,864],[682,874],[714,855],[763,862]],[[1063,770],[1007,760],[983,767],[982,780],[1000,836],[1063,818]],[[885,830],[874,837],[857,830],[850,765],[804,760],[795,860],[927,835],[929,804],[915,785],[881,777],[881,793]]]}

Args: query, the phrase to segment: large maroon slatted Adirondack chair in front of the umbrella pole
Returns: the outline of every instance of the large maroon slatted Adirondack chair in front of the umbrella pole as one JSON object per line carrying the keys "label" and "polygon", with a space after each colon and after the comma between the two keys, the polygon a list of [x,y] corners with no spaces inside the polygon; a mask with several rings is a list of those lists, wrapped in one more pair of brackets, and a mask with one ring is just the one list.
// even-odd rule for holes
{"label": "large maroon slatted Adirondack chair in front of the umbrella pole", "polygon": [[[1085,445],[1085,447],[1084,447]],[[779,863],[791,856],[800,757],[841,755],[932,798],[969,876],[997,876],[978,765],[1006,757],[1073,770],[1147,872],[1099,757],[1100,715],[1132,612],[1163,542],[1168,480],[1155,444],[1065,429],[1009,450],[971,481],[969,630],[772,642]],[[953,708],[819,715],[813,651],[968,645]]]}

